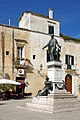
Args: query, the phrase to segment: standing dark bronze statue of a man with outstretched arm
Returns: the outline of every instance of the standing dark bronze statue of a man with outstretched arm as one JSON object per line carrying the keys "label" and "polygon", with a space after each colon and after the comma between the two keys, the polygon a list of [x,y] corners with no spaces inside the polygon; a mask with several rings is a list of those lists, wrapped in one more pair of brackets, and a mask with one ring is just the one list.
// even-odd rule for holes
{"label": "standing dark bronze statue of a man with outstretched arm", "polygon": [[54,35],[51,35],[51,40],[42,49],[46,48],[47,46],[48,46],[49,60],[50,61],[53,61],[53,60],[58,61],[61,46],[59,46],[57,39],[54,38]]}

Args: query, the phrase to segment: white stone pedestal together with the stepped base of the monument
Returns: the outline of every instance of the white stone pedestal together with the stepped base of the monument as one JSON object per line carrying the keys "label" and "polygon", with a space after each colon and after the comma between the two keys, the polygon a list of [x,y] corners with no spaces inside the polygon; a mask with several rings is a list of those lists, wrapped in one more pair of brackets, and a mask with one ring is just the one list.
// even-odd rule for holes
{"label": "white stone pedestal together with the stepped base of the monument", "polygon": [[[29,109],[53,113],[55,110],[66,108],[66,105],[70,107],[70,98],[74,96],[65,90],[64,82],[62,81],[62,63],[60,61],[50,61],[47,66],[49,81],[53,82],[53,91],[48,96],[33,97],[32,103],[26,103],[26,106]],[[68,102],[70,103],[69,105],[67,104]],[[62,103],[64,103],[64,106]]]}

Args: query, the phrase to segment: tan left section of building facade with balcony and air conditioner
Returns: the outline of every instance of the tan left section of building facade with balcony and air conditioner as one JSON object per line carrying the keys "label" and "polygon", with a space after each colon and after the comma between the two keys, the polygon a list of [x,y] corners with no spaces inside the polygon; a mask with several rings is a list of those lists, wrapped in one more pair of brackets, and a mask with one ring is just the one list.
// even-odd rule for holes
{"label": "tan left section of building facade with balcony and air conditioner", "polygon": [[[32,72],[29,33],[16,27],[0,25],[0,78],[21,82],[17,92],[24,94],[26,71]],[[27,53],[27,54],[26,54]]]}

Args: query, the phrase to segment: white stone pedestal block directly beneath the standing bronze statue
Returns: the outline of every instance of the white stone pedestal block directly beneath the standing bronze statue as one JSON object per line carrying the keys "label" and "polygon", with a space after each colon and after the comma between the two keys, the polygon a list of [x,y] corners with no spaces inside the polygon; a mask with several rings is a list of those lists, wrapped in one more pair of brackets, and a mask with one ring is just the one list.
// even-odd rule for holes
{"label": "white stone pedestal block directly beneath the standing bronze statue", "polygon": [[62,81],[62,63],[60,61],[50,61],[47,63],[48,78],[53,82],[53,93],[58,90],[64,90]]}

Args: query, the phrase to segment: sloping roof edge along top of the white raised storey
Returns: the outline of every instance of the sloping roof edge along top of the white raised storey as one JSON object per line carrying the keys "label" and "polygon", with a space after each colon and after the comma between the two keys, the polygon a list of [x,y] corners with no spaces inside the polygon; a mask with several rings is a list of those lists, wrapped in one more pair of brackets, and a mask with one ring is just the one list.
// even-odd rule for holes
{"label": "sloping roof edge along top of the white raised storey", "polygon": [[45,16],[45,15],[42,15],[42,14],[34,13],[34,12],[31,12],[31,11],[24,11],[24,12],[21,14],[21,16],[19,17],[18,21],[21,20],[21,18],[22,18],[22,16],[24,15],[24,13],[30,13],[30,14],[35,15],[35,16],[38,16],[38,17],[43,17],[43,18],[46,18],[46,19],[49,19],[49,20],[53,20],[53,21],[60,22],[59,20],[55,20],[55,19],[49,18],[49,16]]}

